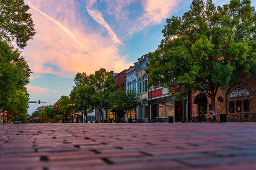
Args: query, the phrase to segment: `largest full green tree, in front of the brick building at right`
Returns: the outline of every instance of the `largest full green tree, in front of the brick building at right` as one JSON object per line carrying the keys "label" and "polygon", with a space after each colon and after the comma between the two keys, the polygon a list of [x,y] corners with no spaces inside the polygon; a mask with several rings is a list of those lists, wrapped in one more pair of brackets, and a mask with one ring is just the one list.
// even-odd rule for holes
{"label": "largest full green tree, in front of the brick building at right", "polygon": [[150,53],[150,84],[172,88],[184,96],[201,91],[211,98],[242,77],[256,75],[256,13],[249,0],[231,0],[215,7],[211,0],[194,0],[182,17],[167,19],[164,39]]}

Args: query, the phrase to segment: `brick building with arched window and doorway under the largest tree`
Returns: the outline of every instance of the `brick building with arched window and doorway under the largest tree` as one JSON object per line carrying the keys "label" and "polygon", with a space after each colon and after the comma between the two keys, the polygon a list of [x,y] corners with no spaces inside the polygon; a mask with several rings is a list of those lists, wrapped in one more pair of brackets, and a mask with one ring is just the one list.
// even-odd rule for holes
{"label": "brick building with arched window and doorway under the largest tree", "polygon": [[[212,120],[213,111],[211,99],[203,93],[191,94],[190,117],[202,116],[206,120]],[[256,121],[256,83],[242,80],[232,88],[219,89],[215,98],[215,113],[217,122],[221,121]],[[242,116],[242,119],[241,119]],[[191,119],[190,119],[191,120]]]}

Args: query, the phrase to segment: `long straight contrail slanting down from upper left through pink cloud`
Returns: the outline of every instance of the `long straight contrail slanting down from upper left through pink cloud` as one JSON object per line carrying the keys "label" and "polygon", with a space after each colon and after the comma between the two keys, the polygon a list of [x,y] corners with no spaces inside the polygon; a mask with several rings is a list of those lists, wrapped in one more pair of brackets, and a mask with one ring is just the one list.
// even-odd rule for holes
{"label": "long straight contrail slanting down from upper left through pink cloud", "polygon": [[81,45],[83,48],[85,48],[86,51],[89,53],[89,49],[88,49],[87,47],[85,47],[85,45],[83,45],[78,39],[76,39],[76,37],[73,35],[73,33],[70,32],[66,27],[64,27],[59,21],[57,21],[57,20],[51,18],[51,17],[50,17],[49,15],[47,15],[46,13],[44,13],[44,12],[38,10],[38,9],[37,9],[34,5],[32,5],[30,2],[28,2],[28,3],[29,3],[29,5],[30,5],[31,7],[33,7],[36,11],[38,11],[38,12],[41,13],[43,16],[45,16],[45,18],[47,18],[47,19],[49,19],[50,21],[52,21],[52,22],[56,23],[57,25],[59,25],[59,27],[60,27],[63,31],[65,31],[71,38],[73,38],[73,39],[76,41],[76,43],[78,43],[78,44]]}

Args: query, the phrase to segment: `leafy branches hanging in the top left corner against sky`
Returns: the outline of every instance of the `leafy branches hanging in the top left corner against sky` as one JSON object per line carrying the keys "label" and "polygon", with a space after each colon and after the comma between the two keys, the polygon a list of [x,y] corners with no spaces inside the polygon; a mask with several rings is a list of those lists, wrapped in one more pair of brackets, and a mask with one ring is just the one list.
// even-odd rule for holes
{"label": "leafy branches hanging in the top left corner against sky", "polygon": [[36,33],[28,10],[23,0],[0,1],[0,39],[15,40],[20,48],[27,46],[27,41]]}

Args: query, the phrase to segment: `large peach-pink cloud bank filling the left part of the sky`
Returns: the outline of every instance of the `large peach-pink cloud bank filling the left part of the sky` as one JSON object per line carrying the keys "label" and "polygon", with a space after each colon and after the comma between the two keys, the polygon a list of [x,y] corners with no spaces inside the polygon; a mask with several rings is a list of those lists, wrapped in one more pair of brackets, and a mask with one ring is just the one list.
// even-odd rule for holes
{"label": "large peach-pink cloud bank filling the left part of the sky", "polygon": [[35,0],[25,3],[30,5],[29,12],[33,13],[37,34],[28,42],[22,55],[37,75],[51,73],[74,77],[77,72],[93,73],[100,67],[122,71],[113,64],[117,61],[118,67],[129,67],[125,58],[118,54],[121,41],[102,18],[97,22],[102,22],[101,26],[110,36],[102,36],[99,30],[81,24],[86,21],[75,13],[73,1]]}

